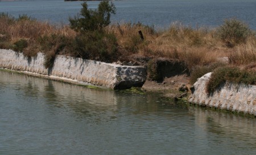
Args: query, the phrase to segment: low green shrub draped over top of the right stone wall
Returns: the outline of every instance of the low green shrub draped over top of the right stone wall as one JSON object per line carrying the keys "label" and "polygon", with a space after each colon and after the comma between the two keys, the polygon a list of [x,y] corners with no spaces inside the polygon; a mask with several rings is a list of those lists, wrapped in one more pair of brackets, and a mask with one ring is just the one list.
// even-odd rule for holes
{"label": "low green shrub draped over top of the right stone wall", "polygon": [[244,83],[246,85],[256,85],[256,72],[240,70],[229,66],[217,68],[207,83],[207,92],[213,93],[225,82]]}

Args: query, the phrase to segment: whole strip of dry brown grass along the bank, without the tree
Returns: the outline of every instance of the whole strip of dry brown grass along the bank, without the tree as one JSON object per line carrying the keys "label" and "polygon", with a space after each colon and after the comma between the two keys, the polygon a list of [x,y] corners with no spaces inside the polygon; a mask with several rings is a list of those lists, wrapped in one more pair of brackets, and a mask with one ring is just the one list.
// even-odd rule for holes
{"label": "whole strip of dry brown grass along the bank, without the tree", "polygon": [[[142,31],[144,40],[138,31]],[[191,72],[196,66],[213,64],[218,57],[229,57],[230,64],[236,66],[255,64],[256,61],[256,37],[253,32],[240,43],[234,43],[235,39],[230,36],[231,41],[224,40],[218,28],[192,28],[180,23],[158,31],[141,23],[112,24],[102,32],[111,37],[102,37],[100,43],[104,47],[115,48],[112,44],[116,44],[116,40],[117,52],[102,57],[105,53],[101,52],[102,49],[98,49],[97,53],[97,45],[94,45],[94,53],[87,53],[90,59],[124,61],[135,56],[149,59],[164,57],[184,61]],[[97,35],[100,34],[96,33],[93,37]],[[80,39],[79,44],[76,43],[77,39]],[[81,42],[83,40],[86,43]],[[92,41],[91,35],[81,36],[81,33],[73,31],[67,25],[53,26],[26,15],[15,19],[8,14],[0,14],[0,48],[19,49],[26,56],[35,56],[41,51],[46,53],[49,60],[57,54],[80,57],[81,54],[77,52],[80,50],[79,46],[93,43]],[[110,55],[113,57],[109,57]],[[255,65],[251,66],[255,68]]]}

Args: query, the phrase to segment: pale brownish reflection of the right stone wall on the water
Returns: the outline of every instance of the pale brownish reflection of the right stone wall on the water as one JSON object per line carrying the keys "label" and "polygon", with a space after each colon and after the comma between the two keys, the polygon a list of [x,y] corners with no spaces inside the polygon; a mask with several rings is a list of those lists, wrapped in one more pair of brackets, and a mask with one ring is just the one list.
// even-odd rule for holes
{"label": "pale brownish reflection of the right stone wall on the water", "polygon": [[[195,111],[196,123],[205,130],[229,137],[253,137],[256,139],[255,119],[247,118],[230,112],[216,112],[191,107]],[[208,124],[207,126],[202,124]]]}

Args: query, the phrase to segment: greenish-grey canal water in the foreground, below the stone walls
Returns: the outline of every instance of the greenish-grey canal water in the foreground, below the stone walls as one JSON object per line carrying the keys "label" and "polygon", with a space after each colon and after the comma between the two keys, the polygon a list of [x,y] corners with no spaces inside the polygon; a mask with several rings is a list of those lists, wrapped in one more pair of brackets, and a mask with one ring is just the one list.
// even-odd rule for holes
{"label": "greenish-grey canal water in the foreground, below the stone walls", "polygon": [[255,118],[0,70],[0,154],[255,152]]}

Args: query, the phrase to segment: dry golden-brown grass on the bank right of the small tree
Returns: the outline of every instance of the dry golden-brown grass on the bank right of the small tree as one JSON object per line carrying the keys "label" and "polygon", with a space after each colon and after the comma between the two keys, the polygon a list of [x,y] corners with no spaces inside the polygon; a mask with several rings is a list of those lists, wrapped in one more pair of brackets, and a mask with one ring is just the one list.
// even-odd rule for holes
{"label": "dry golden-brown grass on the bank right of the small tree", "polygon": [[[144,40],[138,35],[142,30]],[[255,61],[255,36],[250,36],[245,44],[233,48],[226,47],[216,29],[197,28],[172,24],[170,28],[155,31],[142,24],[122,24],[108,27],[117,37],[119,45],[126,49],[127,55],[177,58],[192,65],[207,65],[217,57],[234,57],[232,62],[239,64]],[[246,58],[246,56],[250,58]],[[246,59],[244,61],[240,59]]]}

